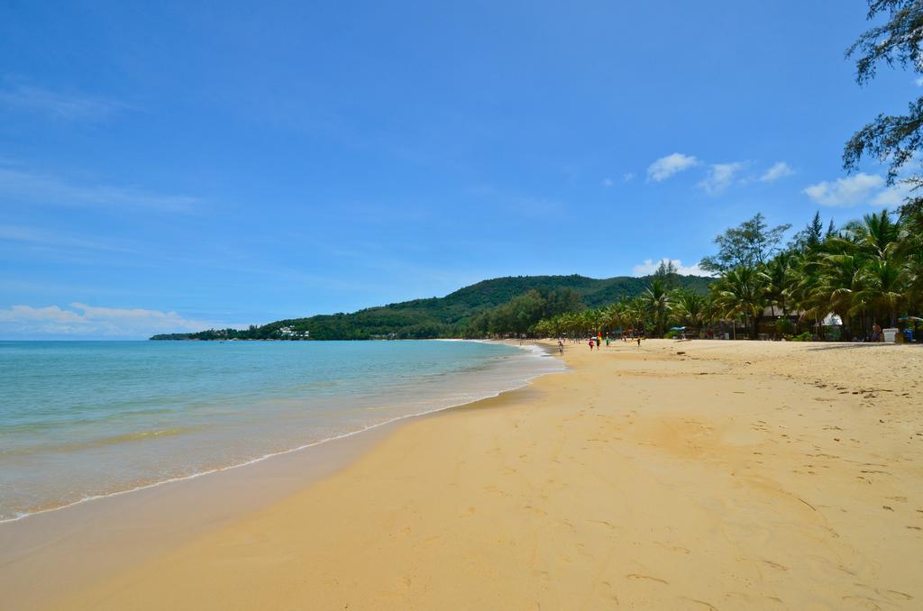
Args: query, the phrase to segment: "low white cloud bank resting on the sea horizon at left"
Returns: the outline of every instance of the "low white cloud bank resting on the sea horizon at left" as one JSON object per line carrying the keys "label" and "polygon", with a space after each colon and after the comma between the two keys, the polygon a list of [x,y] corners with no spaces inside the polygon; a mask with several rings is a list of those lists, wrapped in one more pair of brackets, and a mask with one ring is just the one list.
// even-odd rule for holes
{"label": "low white cloud bank resting on the sea horizon at left", "polygon": [[0,309],[0,337],[148,338],[155,333],[209,329],[214,325],[175,312],[144,308],[12,306]]}

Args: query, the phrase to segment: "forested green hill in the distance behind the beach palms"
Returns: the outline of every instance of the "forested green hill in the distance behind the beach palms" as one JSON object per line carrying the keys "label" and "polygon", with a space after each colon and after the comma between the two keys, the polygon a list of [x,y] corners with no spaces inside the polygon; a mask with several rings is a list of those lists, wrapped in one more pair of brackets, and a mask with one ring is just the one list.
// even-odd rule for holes
{"label": "forested green hill in the distance behind the beach palms", "polygon": [[[678,276],[679,286],[700,293],[710,278]],[[277,320],[250,329],[204,330],[198,333],[155,335],[151,340],[367,340],[377,337],[461,337],[469,323],[488,310],[509,304],[517,297],[537,291],[560,306],[598,307],[622,297],[641,294],[650,277],[619,276],[603,280],[585,276],[509,276],[466,286],[445,297],[414,299],[388,306],[369,307],[352,314],[319,315]]]}

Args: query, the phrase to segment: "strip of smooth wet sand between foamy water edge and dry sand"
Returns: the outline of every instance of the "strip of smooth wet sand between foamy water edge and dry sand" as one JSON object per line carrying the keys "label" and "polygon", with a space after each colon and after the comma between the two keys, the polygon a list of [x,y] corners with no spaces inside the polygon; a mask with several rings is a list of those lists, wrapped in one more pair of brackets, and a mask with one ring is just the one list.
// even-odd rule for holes
{"label": "strip of smooth wet sand between foamy water edge and dry sand", "polygon": [[[504,343],[533,353],[535,358],[540,357],[536,352],[551,356],[548,350],[533,344],[526,346],[513,341],[487,342]],[[537,373],[525,379],[520,386],[500,390],[490,396],[425,412],[403,414],[385,422],[296,448],[272,452],[249,461],[106,495],[86,497],[59,507],[0,521],[0,566],[5,567],[0,571],[0,591],[14,599],[18,596],[22,608],[41,608],[51,598],[78,588],[79,581],[98,580],[125,563],[137,564],[165,548],[181,545],[221,524],[263,509],[342,471],[402,425],[521,392],[537,377],[553,373],[559,372]],[[248,492],[259,493],[261,497],[247,501],[237,494],[238,488],[247,488]],[[159,515],[173,515],[177,512],[186,518],[178,524],[171,521],[169,528],[166,525],[158,527]],[[133,517],[126,520],[122,517],[126,514]],[[147,523],[142,523],[145,521]],[[107,526],[110,522],[117,527]],[[152,528],[151,522],[154,523]],[[81,531],[88,525],[90,533],[82,534]],[[103,562],[91,562],[89,567],[84,564],[85,558],[78,556],[78,549],[106,546],[107,541],[114,538],[115,531],[126,527],[139,533],[149,530],[160,533],[158,537],[144,533],[144,541],[137,542],[140,549],[129,551],[111,547],[108,550],[111,557]],[[178,532],[169,533],[170,530]],[[79,543],[71,541],[73,539]],[[69,542],[69,551],[73,554],[68,556],[66,552],[62,555],[54,549],[61,540]],[[55,574],[69,577],[65,583],[56,584],[58,587],[42,593],[30,593],[30,576],[34,579],[37,568],[47,570],[48,565],[58,567],[54,570]],[[43,587],[47,588],[47,585],[45,583]]]}

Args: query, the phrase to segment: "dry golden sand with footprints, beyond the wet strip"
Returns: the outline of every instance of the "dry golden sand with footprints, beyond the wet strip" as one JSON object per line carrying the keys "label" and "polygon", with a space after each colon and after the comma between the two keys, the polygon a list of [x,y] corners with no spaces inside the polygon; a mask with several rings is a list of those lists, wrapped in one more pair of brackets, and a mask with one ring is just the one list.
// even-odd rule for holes
{"label": "dry golden sand with footprints, beyond the wet strip", "polygon": [[51,606],[923,605],[923,349],[664,340],[564,358]]}

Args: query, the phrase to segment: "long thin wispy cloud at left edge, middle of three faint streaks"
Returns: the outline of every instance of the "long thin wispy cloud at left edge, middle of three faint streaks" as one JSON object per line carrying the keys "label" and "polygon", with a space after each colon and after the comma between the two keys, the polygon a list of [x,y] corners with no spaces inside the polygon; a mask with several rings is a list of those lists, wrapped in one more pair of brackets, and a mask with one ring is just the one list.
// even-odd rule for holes
{"label": "long thin wispy cloud at left edge, middle of three faint streaks", "polygon": [[199,198],[162,195],[134,186],[78,185],[50,174],[0,167],[0,198],[52,206],[191,211]]}

